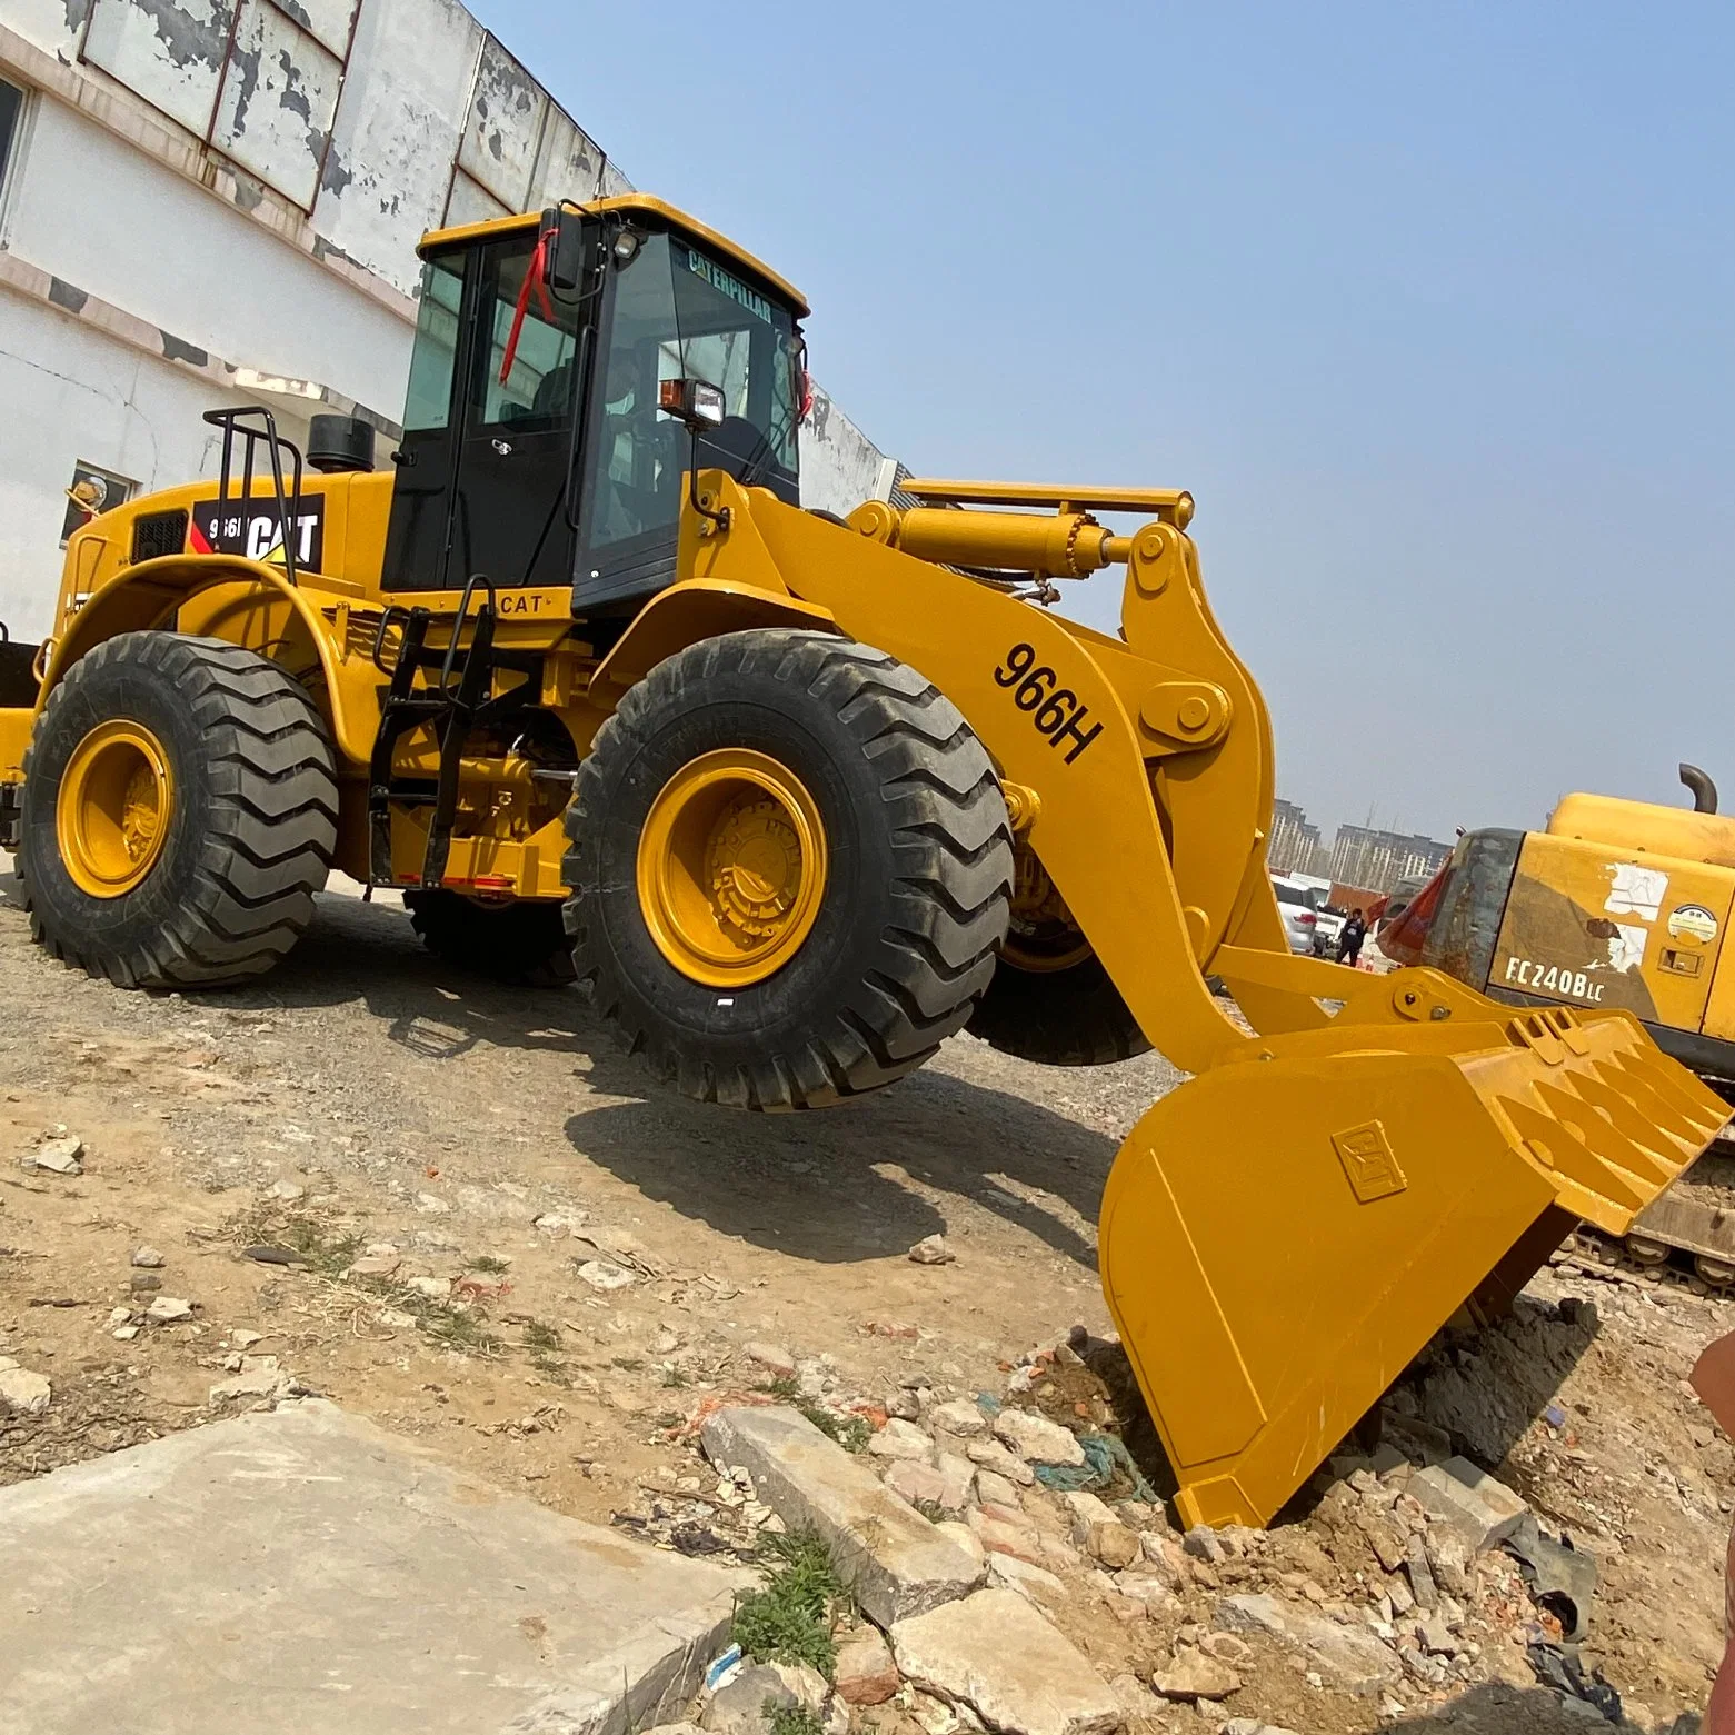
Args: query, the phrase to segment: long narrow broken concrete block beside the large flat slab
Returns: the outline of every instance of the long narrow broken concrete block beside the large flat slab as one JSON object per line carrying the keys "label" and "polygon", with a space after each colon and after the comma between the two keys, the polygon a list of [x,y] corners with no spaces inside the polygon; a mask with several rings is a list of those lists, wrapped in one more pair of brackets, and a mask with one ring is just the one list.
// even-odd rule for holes
{"label": "long narrow broken concrete block beside the large flat slab", "polygon": [[758,1497],[791,1529],[812,1527],[876,1626],[963,1596],[982,1567],[940,1535],[859,1457],[781,1405],[723,1409],[704,1423],[713,1464],[739,1464]]}

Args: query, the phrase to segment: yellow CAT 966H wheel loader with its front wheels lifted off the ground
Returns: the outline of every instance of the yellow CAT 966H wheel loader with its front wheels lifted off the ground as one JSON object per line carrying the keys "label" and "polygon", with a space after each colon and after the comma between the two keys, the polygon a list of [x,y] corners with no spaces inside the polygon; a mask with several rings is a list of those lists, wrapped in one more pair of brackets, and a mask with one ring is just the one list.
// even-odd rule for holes
{"label": "yellow CAT 966H wheel loader with its front wheels lifted off the ground", "polygon": [[[1188,1523],[1268,1520],[1445,1320],[1721,1124],[1626,1012],[1291,956],[1188,494],[914,481],[838,522],[798,503],[807,309],[720,234],[626,196],[422,255],[392,472],[222,411],[215,484],[71,538],[0,711],[68,963],[252,979],[337,864],[708,1102],[857,1097],[959,1029],[1159,1048],[1195,1077],[1119,1152],[1102,1279]],[[1117,633],[1044,606],[1107,566]]]}

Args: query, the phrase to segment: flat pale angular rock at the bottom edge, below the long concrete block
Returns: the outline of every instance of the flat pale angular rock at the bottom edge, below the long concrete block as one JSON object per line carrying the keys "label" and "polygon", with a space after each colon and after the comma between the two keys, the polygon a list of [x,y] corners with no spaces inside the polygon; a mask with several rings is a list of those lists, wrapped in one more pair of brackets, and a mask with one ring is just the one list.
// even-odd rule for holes
{"label": "flat pale angular rock at the bottom edge, below the long concrete block", "polygon": [[899,1669],[1005,1735],[1105,1735],[1121,1706],[1084,1657],[1015,1591],[977,1591],[892,1627]]}

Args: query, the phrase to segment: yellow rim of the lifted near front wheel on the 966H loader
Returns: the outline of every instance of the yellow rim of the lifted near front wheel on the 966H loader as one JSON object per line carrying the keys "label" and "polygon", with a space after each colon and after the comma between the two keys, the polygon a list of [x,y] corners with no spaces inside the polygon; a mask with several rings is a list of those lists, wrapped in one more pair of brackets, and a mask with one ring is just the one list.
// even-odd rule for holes
{"label": "yellow rim of the lifted near front wheel on the 966H loader", "polygon": [[826,894],[826,828],[765,753],[704,753],[663,786],[638,835],[638,907],[658,951],[706,987],[748,987],[800,949]]}

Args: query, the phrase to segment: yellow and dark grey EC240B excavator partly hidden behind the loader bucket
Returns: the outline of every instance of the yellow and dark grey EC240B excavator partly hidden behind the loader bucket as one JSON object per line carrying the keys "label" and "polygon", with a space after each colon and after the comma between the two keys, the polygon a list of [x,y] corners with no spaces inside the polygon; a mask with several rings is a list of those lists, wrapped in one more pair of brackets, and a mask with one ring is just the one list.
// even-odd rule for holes
{"label": "yellow and dark grey EC240B excavator partly hidden behind the loader bucket", "polygon": [[[1735,1102],[1735,819],[1697,765],[1679,777],[1692,810],[1567,795],[1542,831],[1466,833],[1381,949],[1511,1006],[1619,1006]],[[1679,1258],[1735,1284],[1728,1135],[1633,1220],[1620,1247],[1634,1263]]]}

